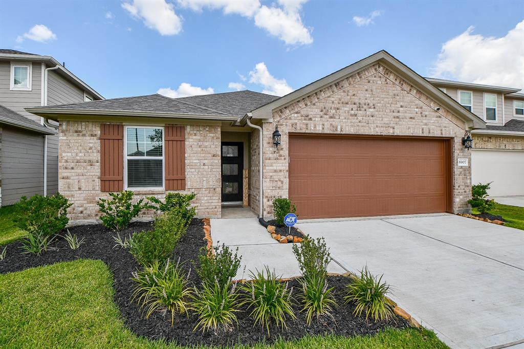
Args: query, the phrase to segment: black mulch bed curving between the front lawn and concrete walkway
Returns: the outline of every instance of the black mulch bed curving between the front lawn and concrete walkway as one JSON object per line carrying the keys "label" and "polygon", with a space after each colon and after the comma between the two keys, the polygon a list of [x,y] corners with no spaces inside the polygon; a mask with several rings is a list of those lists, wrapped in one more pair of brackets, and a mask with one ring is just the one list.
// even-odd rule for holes
{"label": "black mulch bed curving between the front lawn and concrete walkway", "polygon": [[[141,230],[150,230],[150,222],[132,223],[126,230],[120,232],[120,236],[128,236]],[[324,321],[313,321],[310,326],[305,322],[305,314],[300,312],[298,304],[293,306],[297,315],[296,320],[289,320],[288,329],[278,329],[276,326],[270,328],[271,336],[267,336],[267,330],[261,326],[253,325],[253,320],[249,317],[246,307],[241,308],[237,313],[238,325],[230,332],[203,333],[201,330],[193,332],[197,317],[190,312],[189,318],[185,316],[176,319],[174,326],[171,327],[169,314],[163,315],[160,312],[154,313],[149,319],[145,319],[140,312],[138,305],[132,301],[134,282],[130,280],[131,273],[139,265],[133,256],[126,249],[119,247],[113,248],[115,242],[113,236],[116,234],[107,230],[102,225],[83,225],[69,228],[71,234],[77,234],[79,238],[85,237],[84,244],[77,250],[71,250],[67,242],[58,238],[50,250],[40,256],[20,254],[18,248],[21,243],[14,242],[7,245],[7,254],[3,261],[0,261],[0,273],[10,271],[20,271],[30,267],[49,265],[61,261],[71,261],[79,258],[101,259],[103,260],[114,275],[113,288],[115,290],[114,301],[122,313],[125,325],[137,335],[148,337],[151,340],[166,339],[177,342],[180,345],[225,345],[234,344],[254,344],[258,342],[273,343],[279,337],[282,339],[298,339],[304,335],[337,334],[344,336],[375,334],[384,330],[387,326],[394,328],[408,328],[408,321],[396,316],[390,321],[373,322],[366,321],[364,318],[353,315],[353,304],[344,305],[344,288],[351,282],[350,278],[342,276],[330,276],[329,285],[335,287],[334,295],[339,307],[333,312],[333,319]],[[180,257],[185,261],[183,268],[189,272],[191,268],[190,280],[198,286],[200,279],[196,275],[195,263],[198,263],[197,255],[201,247],[206,246],[204,240],[203,223],[194,219],[188,228],[188,232],[180,239],[179,244],[173,251],[173,259]],[[300,289],[298,280],[289,281],[289,287],[293,286],[293,294],[296,296]]]}

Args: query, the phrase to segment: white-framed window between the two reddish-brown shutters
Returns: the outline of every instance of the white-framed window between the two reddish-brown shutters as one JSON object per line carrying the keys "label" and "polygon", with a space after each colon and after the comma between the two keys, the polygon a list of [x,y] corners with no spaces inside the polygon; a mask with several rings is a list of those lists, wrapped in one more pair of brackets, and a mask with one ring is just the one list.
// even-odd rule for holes
{"label": "white-framed window between the two reddish-brown shutters", "polygon": [[163,132],[158,126],[125,126],[126,189],[164,188]]}

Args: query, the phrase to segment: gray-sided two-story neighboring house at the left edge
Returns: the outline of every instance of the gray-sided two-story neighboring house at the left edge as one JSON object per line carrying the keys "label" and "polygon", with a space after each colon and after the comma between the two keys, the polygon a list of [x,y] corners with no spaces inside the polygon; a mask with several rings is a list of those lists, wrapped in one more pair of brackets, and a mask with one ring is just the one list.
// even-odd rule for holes
{"label": "gray-sided two-story neighboring house at the left edge", "polygon": [[0,205],[58,191],[58,125],[32,106],[103,97],[54,58],[0,49]]}

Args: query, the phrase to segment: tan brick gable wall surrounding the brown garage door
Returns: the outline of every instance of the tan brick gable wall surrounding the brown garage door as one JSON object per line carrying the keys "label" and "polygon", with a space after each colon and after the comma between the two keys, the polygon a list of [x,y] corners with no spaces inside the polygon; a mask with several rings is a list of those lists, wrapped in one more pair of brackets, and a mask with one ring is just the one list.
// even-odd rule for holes
{"label": "tan brick gable wall surrounding the brown garage door", "polygon": [[[432,136],[453,139],[453,208],[468,211],[471,168],[457,158],[471,158],[462,146],[464,122],[380,64],[359,71],[273,113],[264,128],[264,215],[274,198],[288,196],[289,132],[355,135]],[[281,146],[272,145],[278,125]],[[471,163],[471,160],[469,161]]]}

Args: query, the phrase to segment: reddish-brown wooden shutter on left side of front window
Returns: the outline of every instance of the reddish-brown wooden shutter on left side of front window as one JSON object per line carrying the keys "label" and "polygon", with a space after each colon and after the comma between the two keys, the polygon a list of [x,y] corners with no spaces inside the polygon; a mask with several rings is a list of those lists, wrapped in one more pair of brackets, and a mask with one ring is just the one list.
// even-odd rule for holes
{"label": "reddish-brown wooden shutter on left side of front window", "polygon": [[100,125],[100,191],[124,190],[124,126]]}

